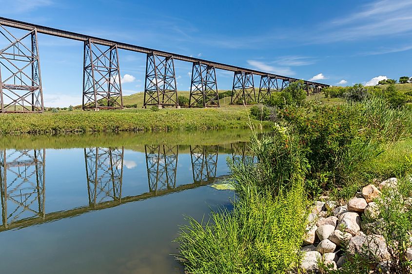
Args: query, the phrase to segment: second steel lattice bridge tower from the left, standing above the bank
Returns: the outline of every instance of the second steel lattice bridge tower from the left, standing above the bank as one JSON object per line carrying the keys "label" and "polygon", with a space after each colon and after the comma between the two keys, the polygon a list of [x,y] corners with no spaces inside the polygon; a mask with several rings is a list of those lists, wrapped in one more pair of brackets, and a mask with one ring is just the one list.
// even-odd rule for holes
{"label": "second steel lattice bridge tower from the left, standing above the bank", "polygon": [[[105,48],[105,49],[103,49]],[[122,109],[118,47],[84,41],[83,110]]]}

